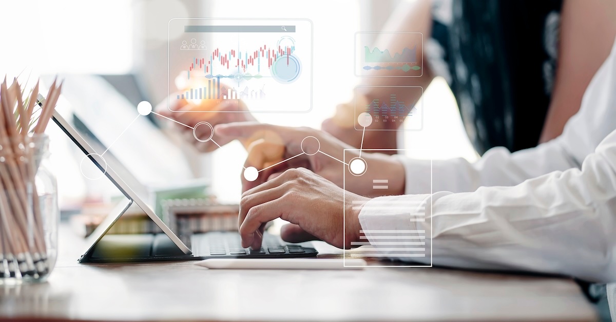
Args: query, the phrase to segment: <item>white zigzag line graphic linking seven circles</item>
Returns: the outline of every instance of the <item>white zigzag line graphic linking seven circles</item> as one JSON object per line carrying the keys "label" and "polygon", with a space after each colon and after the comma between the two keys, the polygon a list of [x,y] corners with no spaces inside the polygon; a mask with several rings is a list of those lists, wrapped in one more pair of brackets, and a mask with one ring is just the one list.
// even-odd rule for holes
{"label": "white zigzag line graphic linking seven circles", "polygon": [[[84,156],[84,159],[82,159],[82,160],[81,160],[81,166],[83,167],[83,162],[84,162],[84,160],[85,160],[85,159],[87,159],[87,158],[89,157],[90,159],[95,160],[95,161],[99,164],[99,166],[100,166],[99,168],[100,168],[101,170],[103,170],[102,175],[105,175],[105,173],[107,172],[107,162],[106,162],[106,161],[105,161],[105,159],[103,158],[103,155],[104,155],[105,153],[107,153],[107,151],[109,151],[109,150],[111,149],[111,147],[113,146],[113,144],[115,144],[115,142],[117,142],[117,141],[118,141],[118,139],[120,139],[120,137],[121,137],[124,133],[126,133],[126,131],[127,131],[127,130],[131,127],[131,125],[132,125],[133,123],[135,123],[135,121],[137,120],[137,118],[139,118],[140,116],[147,116],[147,115],[149,115],[150,113],[151,113],[151,114],[158,115],[159,117],[165,118],[166,120],[169,120],[169,121],[171,121],[171,122],[175,122],[175,123],[177,123],[177,124],[179,124],[179,125],[186,126],[187,128],[191,128],[191,129],[193,130],[193,136],[194,136],[194,137],[195,137],[195,139],[196,139],[197,141],[199,141],[199,142],[208,142],[208,141],[211,141],[211,142],[213,142],[214,144],[216,144],[216,146],[221,147],[221,145],[220,145],[220,144],[218,144],[216,141],[214,141],[214,139],[213,139],[213,136],[214,136],[214,127],[213,127],[211,124],[209,124],[208,122],[199,122],[199,123],[197,123],[195,126],[186,125],[186,124],[184,124],[184,123],[182,123],[182,122],[178,122],[177,120],[174,120],[174,119],[172,119],[172,118],[166,117],[166,116],[161,115],[161,114],[158,114],[158,113],[156,113],[156,112],[153,112],[153,111],[152,111],[152,104],[150,104],[150,103],[149,103],[149,102],[147,102],[147,101],[142,101],[142,102],[140,102],[139,104],[137,104],[137,112],[139,112],[139,115],[137,115],[137,117],[135,117],[135,118],[132,120],[132,122],[131,122],[131,123],[129,123],[129,125],[128,125],[128,126],[126,126],[126,128],[124,129],[124,131],[122,131],[122,133],[120,133],[120,135],[119,135],[119,136],[118,136],[115,140],[113,140],[113,142],[111,142],[111,144],[107,147],[107,149],[105,150],[105,152],[103,152],[102,154],[88,154],[88,155]],[[307,136],[307,137],[306,137],[306,138],[304,138],[304,139],[302,140],[302,142],[301,142],[301,149],[302,149],[302,152],[301,152],[300,154],[298,154],[298,155],[294,155],[293,157],[290,157],[290,158],[288,158],[288,159],[285,159],[285,160],[282,160],[282,161],[280,161],[280,162],[277,162],[277,163],[275,163],[275,164],[273,164],[273,165],[270,165],[269,167],[262,168],[261,170],[257,170],[257,168],[255,168],[255,167],[248,167],[248,168],[243,167],[243,168],[244,168],[244,178],[246,178],[246,180],[248,180],[248,181],[255,181],[255,180],[257,180],[257,177],[259,176],[259,172],[261,172],[261,171],[265,171],[265,170],[267,170],[267,169],[269,169],[269,168],[272,168],[272,167],[275,167],[275,166],[280,165],[280,164],[282,164],[282,163],[285,163],[285,162],[287,162],[287,161],[289,161],[289,160],[291,160],[291,159],[295,159],[296,157],[300,157],[301,155],[315,155],[315,154],[317,154],[317,153],[321,153],[321,154],[325,155],[326,157],[330,157],[331,159],[336,160],[336,161],[341,162],[342,164],[346,165],[347,167],[349,167],[349,171],[351,171],[351,174],[352,174],[352,175],[355,175],[355,176],[360,176],[360,175],[363,175],[363,173],[365,173],[365,172],[366,172],[366,170],[367,170],[367,168],[368,168],[368,165],[367,165],[366,161],[365,161],[364,159],[362,159],[363,138],[364,138],[364,134],[366,133],[366,127],[367,127],[368,125],[370,125],[370,123],[372,122],[372,117],[371,117],[371,115],[370,115],[370,114],[368,114],[368,113],[362,113],[362,114],[360,115],[360,117],[358,118],[358,121],[359,121],[360,125],[362,125],[362,126],[363,126],[363,133],[362,133],[362,145],[360,146],[360,150],[359,150],[359,157],[355,157],[355,158],[351,159],[351,161],[350,161],[349,163],[346,163],[346,162],[344,162],[344,161],[342,161],[342,160],[340,160],[340,159],[338,159],[338,158],[336,158],[336,157],[333,157],[332,155],[326,154],[325,152],[321,151],[321,142],[319,142],[319,141],[318,141],[318,139],[317,139],[317,138],[315,138],[314,136]],[[208,137],[208,138],[202,139],[202,138],[200,138],[200,137],[197,135],[197,128],[198,128],[199,126],[206,126],[206,127],[208,127],[208,128],[209,128],[209,133],[210,133],[210,134],[209,134],[209,137]],[[309,149],[309,146],[306,146],[306,148],[304,148],[304,142],[308,143],[306,140],[308,140],[308,141],[312,141],[312,142],[313,142],[313,144],[311,144],[312,149]],[[316,142],[315,142],[315,141],[316,141]],[[317,151],[312,152],[312,151],[314,151],[314,146],[317,146]],[[309,150],[309,152],[306,152],[306,150]],[[82,173],[82,174],[83,174],[86,178],[89,178],[89,179],[92,179],[92,180],[95,180],[95,179],[98,179],[98,178],[101,178],[101,177],[102,177],[102,175],[101,175],[101,176],[99,176],[99,177],[97,177],[97,178],[90,178],[89,176],[87,176],[87,175],[84,173],[83,168],[81,169],[81,173]]]}

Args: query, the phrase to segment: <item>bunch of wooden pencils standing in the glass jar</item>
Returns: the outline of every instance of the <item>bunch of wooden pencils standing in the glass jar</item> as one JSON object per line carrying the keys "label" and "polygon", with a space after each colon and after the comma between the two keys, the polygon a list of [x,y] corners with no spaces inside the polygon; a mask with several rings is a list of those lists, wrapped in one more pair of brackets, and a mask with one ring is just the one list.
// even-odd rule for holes
{"label": "bunch of wooden pencils standing in the glass jar", "polygon": [[5,77],[0,84],[0,276],[40,276],[49,271],[34,178],[38,149],[43,148],[39,141],[62,90],[62,84],[56,84],[54,80],[40,109],[35,107],[38,81],[29,95],[17,79],[8,85]]}

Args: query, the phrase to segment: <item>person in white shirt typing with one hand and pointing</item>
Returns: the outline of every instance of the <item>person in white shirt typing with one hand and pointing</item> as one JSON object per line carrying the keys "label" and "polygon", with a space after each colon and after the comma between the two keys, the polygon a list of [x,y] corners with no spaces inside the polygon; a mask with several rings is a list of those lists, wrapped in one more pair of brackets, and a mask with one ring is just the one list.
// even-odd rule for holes
{"label": "person in white shirt typing with one hand and pointing", "polygon": [[[434,161],[434,194],[429,194],[429,182],[415,179],[430,171],[429,162],[364,152],[368,167],[397,179],[377,197],[371,182],[352,176],[344,183],[343,197],[341,163],[332,157],[342,159],[342,150],[351,147],[338,139],[308,128],[258,123],[215,130],[220,136],[283,144],[288,157],[302,153],[307,136],[319,142],[319,147],[303,149],[321,153],[299,155],[247,183],[240,210],[245,247],[260,247],[265,223],[280,217],[291,223],[281,233],[287,241],[318,238],[348,249],[360,241],[360,230],[421,230],[432,236],[426,238],[426,249],[432,249],[435,265],[616,281],[616,43],[561,136],[514,153],[497,147],[477,163]],[[265,159],[265,154],[249,156],[246,165],[258,167],[254,162]],[[426,221],[409,221],[412,208],[368,207],[400,200],[425,201]],[[353,207],[357,202],[365,202],[363,208]],[[375,241],[370,233],[365,238]],[[391,249],[373,244],[397,258]]]}

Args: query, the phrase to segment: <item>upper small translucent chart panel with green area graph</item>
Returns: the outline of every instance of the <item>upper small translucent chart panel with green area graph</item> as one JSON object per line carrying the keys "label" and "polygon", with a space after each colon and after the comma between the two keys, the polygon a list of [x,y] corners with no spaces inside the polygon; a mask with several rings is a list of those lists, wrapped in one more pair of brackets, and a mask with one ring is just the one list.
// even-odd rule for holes
{"label": "upper small translucent chart panel with green area graph", "polygon": [[355,33],[355,75],[364,77],[423,75],[423,35]]}

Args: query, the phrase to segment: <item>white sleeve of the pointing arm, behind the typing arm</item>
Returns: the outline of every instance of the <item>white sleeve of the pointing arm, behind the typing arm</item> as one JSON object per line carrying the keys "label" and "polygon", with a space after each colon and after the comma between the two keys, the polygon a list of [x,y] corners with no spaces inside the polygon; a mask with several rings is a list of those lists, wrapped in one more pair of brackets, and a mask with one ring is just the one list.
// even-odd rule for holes
{"label": "white sleeve of the pointing arm, behind the typing arm", "polygon": [[[432,191],[451,192],[471,192],[480,186],[514,186],[552,171],[579,168],[599,142],[616,129],[615,78],[616,42],[588,85],[579,112],[570,118],[561,136],[538,147],[514,153],[495,147],[476,163],[460,158],[434,160],[431,165],[429,160],[395,156],[405,167],[405,193],[429,193],[431,184]],[[431,167],[430,180],[425,174]]]}

